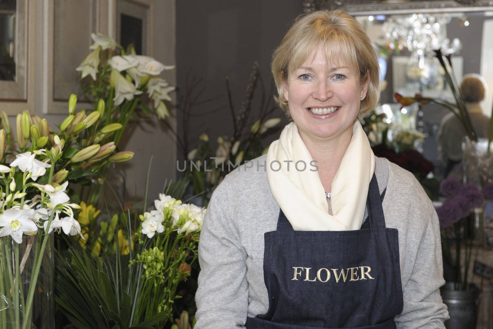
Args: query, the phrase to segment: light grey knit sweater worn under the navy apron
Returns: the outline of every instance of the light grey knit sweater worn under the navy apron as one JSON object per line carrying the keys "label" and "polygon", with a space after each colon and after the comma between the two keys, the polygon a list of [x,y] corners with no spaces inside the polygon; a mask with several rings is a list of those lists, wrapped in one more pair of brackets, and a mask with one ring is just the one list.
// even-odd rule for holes
{"label": "light grey knit sweater worn under the navy apron", "polygon": [[[246,317],[269,307],[264,283],[264,233],[276,230],[279,205],[271,193],[266,155],[228,174],[214,190],[199,242],[197,324],[194,329],[244,328]],[[258,170],[257,170],[258,164]],[[250,164],[251,166],[251,164]],[[375,174],[387,227],[399,230],[404,309],[397,328],[445,328],[447,306],[438,217],[408,171],[377,158]],[[300,205],[302,206],[302,205]]]}

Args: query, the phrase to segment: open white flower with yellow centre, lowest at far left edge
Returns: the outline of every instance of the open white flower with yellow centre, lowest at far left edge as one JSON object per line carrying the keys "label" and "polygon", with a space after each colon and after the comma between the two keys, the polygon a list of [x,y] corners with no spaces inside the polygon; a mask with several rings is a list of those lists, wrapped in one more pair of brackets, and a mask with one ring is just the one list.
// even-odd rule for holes
{"label": "open white flower with yellow centre, lowest at far left edge", "polygon": [[34,235],[37,226],[30,218],[33,216],[32,209],[7,209],[0,215],[0,237],[10,235],[17,242],[22,242],[22,234]]}

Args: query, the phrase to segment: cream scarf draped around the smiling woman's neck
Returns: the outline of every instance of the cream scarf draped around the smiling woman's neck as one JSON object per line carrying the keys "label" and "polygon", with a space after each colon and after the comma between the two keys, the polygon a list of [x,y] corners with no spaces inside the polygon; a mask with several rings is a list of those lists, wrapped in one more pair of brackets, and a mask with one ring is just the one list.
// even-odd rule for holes
{"label": "cream scarf draped around the smiling woman's neck", "polygon": [[[306,163],[305,170],[302,170],[303,162],[295,168],[300,160]],[[332,181],[333,216],[328,214],[325,191],[311,161],[313,157],[294,122],[284,127],[279,140],[272,142],[267,152],[267,177],[272,194],[293,228],[297,231],[359,229],[375,171],[375,155],[359,121],[353,125],[351,142]]]}

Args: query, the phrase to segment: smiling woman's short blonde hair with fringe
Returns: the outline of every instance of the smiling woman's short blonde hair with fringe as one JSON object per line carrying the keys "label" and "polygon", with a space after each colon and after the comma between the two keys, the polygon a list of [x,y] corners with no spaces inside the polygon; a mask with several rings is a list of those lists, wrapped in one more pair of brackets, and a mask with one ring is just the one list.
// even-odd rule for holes
{"label": "smiling woman's short blonde hair with fringe", "polygon": [[271,63],[279,94],[274,99],[279,107],[288,111],[282,88],[288,72],[300,68],[309,56],[314,56],[320,46],[325,49],[327,63],[350,65],[359,73],[360,83],[370,76],[368,91],[361,101],[358,117],[373,110],[380,98],[377,54],[362,26],[342,10],[319,10],[300,15],[282,38]]}

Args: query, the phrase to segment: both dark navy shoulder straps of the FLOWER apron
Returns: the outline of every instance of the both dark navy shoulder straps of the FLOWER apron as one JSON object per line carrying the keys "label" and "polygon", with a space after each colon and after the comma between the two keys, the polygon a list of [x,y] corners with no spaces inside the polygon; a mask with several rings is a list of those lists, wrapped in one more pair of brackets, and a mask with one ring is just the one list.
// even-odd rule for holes
{"label": "both dark navy shoulder straps of the FLOWER apron", "polygon": [[[368,207],[368,221],[370,228],[383,227],[385,228],[384,209],[382,208],[382,200],[380,198],[380,191],[378,189],[377,176],[373,174],[368,187],[368,197],[366,199],[366,205]],[[286,215],[279,210],[279,218],[277,224],[278,231],[294,231],[293,226],[286,218]]]}

